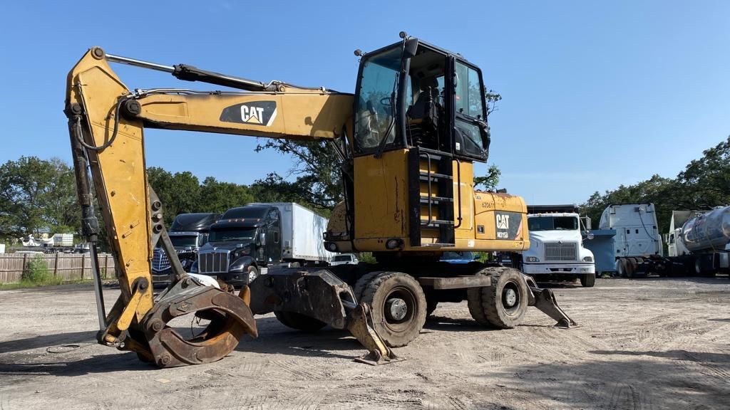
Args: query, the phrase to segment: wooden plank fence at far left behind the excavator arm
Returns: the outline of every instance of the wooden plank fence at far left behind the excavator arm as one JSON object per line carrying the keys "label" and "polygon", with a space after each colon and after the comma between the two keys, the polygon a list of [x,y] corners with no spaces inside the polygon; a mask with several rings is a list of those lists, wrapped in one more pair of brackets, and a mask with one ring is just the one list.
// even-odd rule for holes
{"label": "wooden plank fence at far left behind the excavator arm", "polygon": [[[43,260],[50,274],[63,280],[91,279],[93,277],[91,255],[88,254],[0,253],[0,283],[20,282],[23,271],[28,268],[28,263],[36,258]],[[98,260],[101,277],[103,279],[115,279],[114,258],[112,255],[108,253],[100,254]]]}

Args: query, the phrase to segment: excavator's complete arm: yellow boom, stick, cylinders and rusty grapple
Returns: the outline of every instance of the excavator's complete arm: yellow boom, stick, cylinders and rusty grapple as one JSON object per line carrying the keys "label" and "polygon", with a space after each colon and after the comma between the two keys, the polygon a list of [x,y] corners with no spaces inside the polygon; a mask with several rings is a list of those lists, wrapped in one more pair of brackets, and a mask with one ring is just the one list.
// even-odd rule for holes
{"label": "excavator's complete arm: yellow boom, stick, cylinders and rusty grapple", "polygon": [[[249,91],[136,90],[119,80],[108,61],[169,71],[184,80],[203,80]],[[117,260],[121,295],[104,312],[98,269],[99,342],[136,351],[160,366],[207,363],[237,346],[244,333],[256,335],[248,304],[231,293],[188,276],[163,225],[162,206],[147,185],[143,128],[167,128],[286,139],[336,139],[351,121],[350,94],[296,88],[202,71],[161,66],[118,56],[99,47],[69,73],[66,115],[82,205],[83,233],[96,253],[96,222],[88,170],[110,245]],[[177,281],[153,301],[150,260],[161,242]],[[95,260],[93,255],[92,260]],[[203,333],[186,339],[167,324],[195,314],[210,320]]]}

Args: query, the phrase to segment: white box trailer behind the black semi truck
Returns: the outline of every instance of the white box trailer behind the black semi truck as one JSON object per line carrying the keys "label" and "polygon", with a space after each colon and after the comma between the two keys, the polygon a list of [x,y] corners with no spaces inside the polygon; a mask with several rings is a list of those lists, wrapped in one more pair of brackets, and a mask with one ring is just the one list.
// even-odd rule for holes
{"label": "white box trailer behind the black semi truck", "polygon": [[336,255],[324,247],[329,220],[294,202],[257,202],[247,206],[276,206],[281,213],[282,259],[329,262]]}

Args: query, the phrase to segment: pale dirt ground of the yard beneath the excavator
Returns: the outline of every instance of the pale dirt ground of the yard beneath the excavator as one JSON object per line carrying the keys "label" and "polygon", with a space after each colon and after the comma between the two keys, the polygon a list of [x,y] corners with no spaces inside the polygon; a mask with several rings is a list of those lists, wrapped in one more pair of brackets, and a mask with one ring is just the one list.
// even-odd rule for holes
{"label": "pale dirt ground of the yard beneath the excavator", "polygon": [[730,409],[728,278],[596,282],[554,287],[573,330],[534,308],[485,330],[466,303],[442,303],[396,349],[406,361],[373,367],[352,361],[363,350],[346,332],[269,315],[218,363],[163,370],[94,343],[91,286],[7,290],[0,410]]}

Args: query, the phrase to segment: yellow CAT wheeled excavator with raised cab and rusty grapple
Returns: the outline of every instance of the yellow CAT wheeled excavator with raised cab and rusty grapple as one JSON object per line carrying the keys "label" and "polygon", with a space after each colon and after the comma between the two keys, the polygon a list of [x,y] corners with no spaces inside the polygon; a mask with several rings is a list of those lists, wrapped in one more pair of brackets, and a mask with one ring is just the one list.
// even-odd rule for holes
{"label": "yellow CAT wheeled excavator with raised cab and rusty grapple", "polygon": [[[396,360],[391,347],[415,339],[442,301],[466,300],[472,317],[490,327],[518,325],[527,306],[561,327],[575,325],[550,290],[514,268],[439,262],[444,252],[529,247],[523,199],[474,187],[472,165],[487,160],[490,142],[480,69],[404,33],[393,45],[356,55],[351,94],[164,66],[99,47],[85,53],[69,73],[65,109],[82,231],[96,262],[98,203],[121,288],[107,314],[93,266],[99,343],[161,367],[210,363],[244,334],[257,336],[254,314],[274,312],[291,328],[347,328],[368,349],[360,359],[377,364]],[[131,91],[109,63],[226,89]],[[323,233],[325,246],[373,252],[377,264],[270,268],[238,295],[204,280],[227,271],[231,250],[207,255],[215,260],[186,273],[147,185],[144,128],[330,142],[342,160],[345,195]],[[204,144],[215,151],[210,140]],[[150,260],[158,244],[175,279],[153,295]],[[188,337],[169,324],[188,314],[209,321],[207,328]]]}

